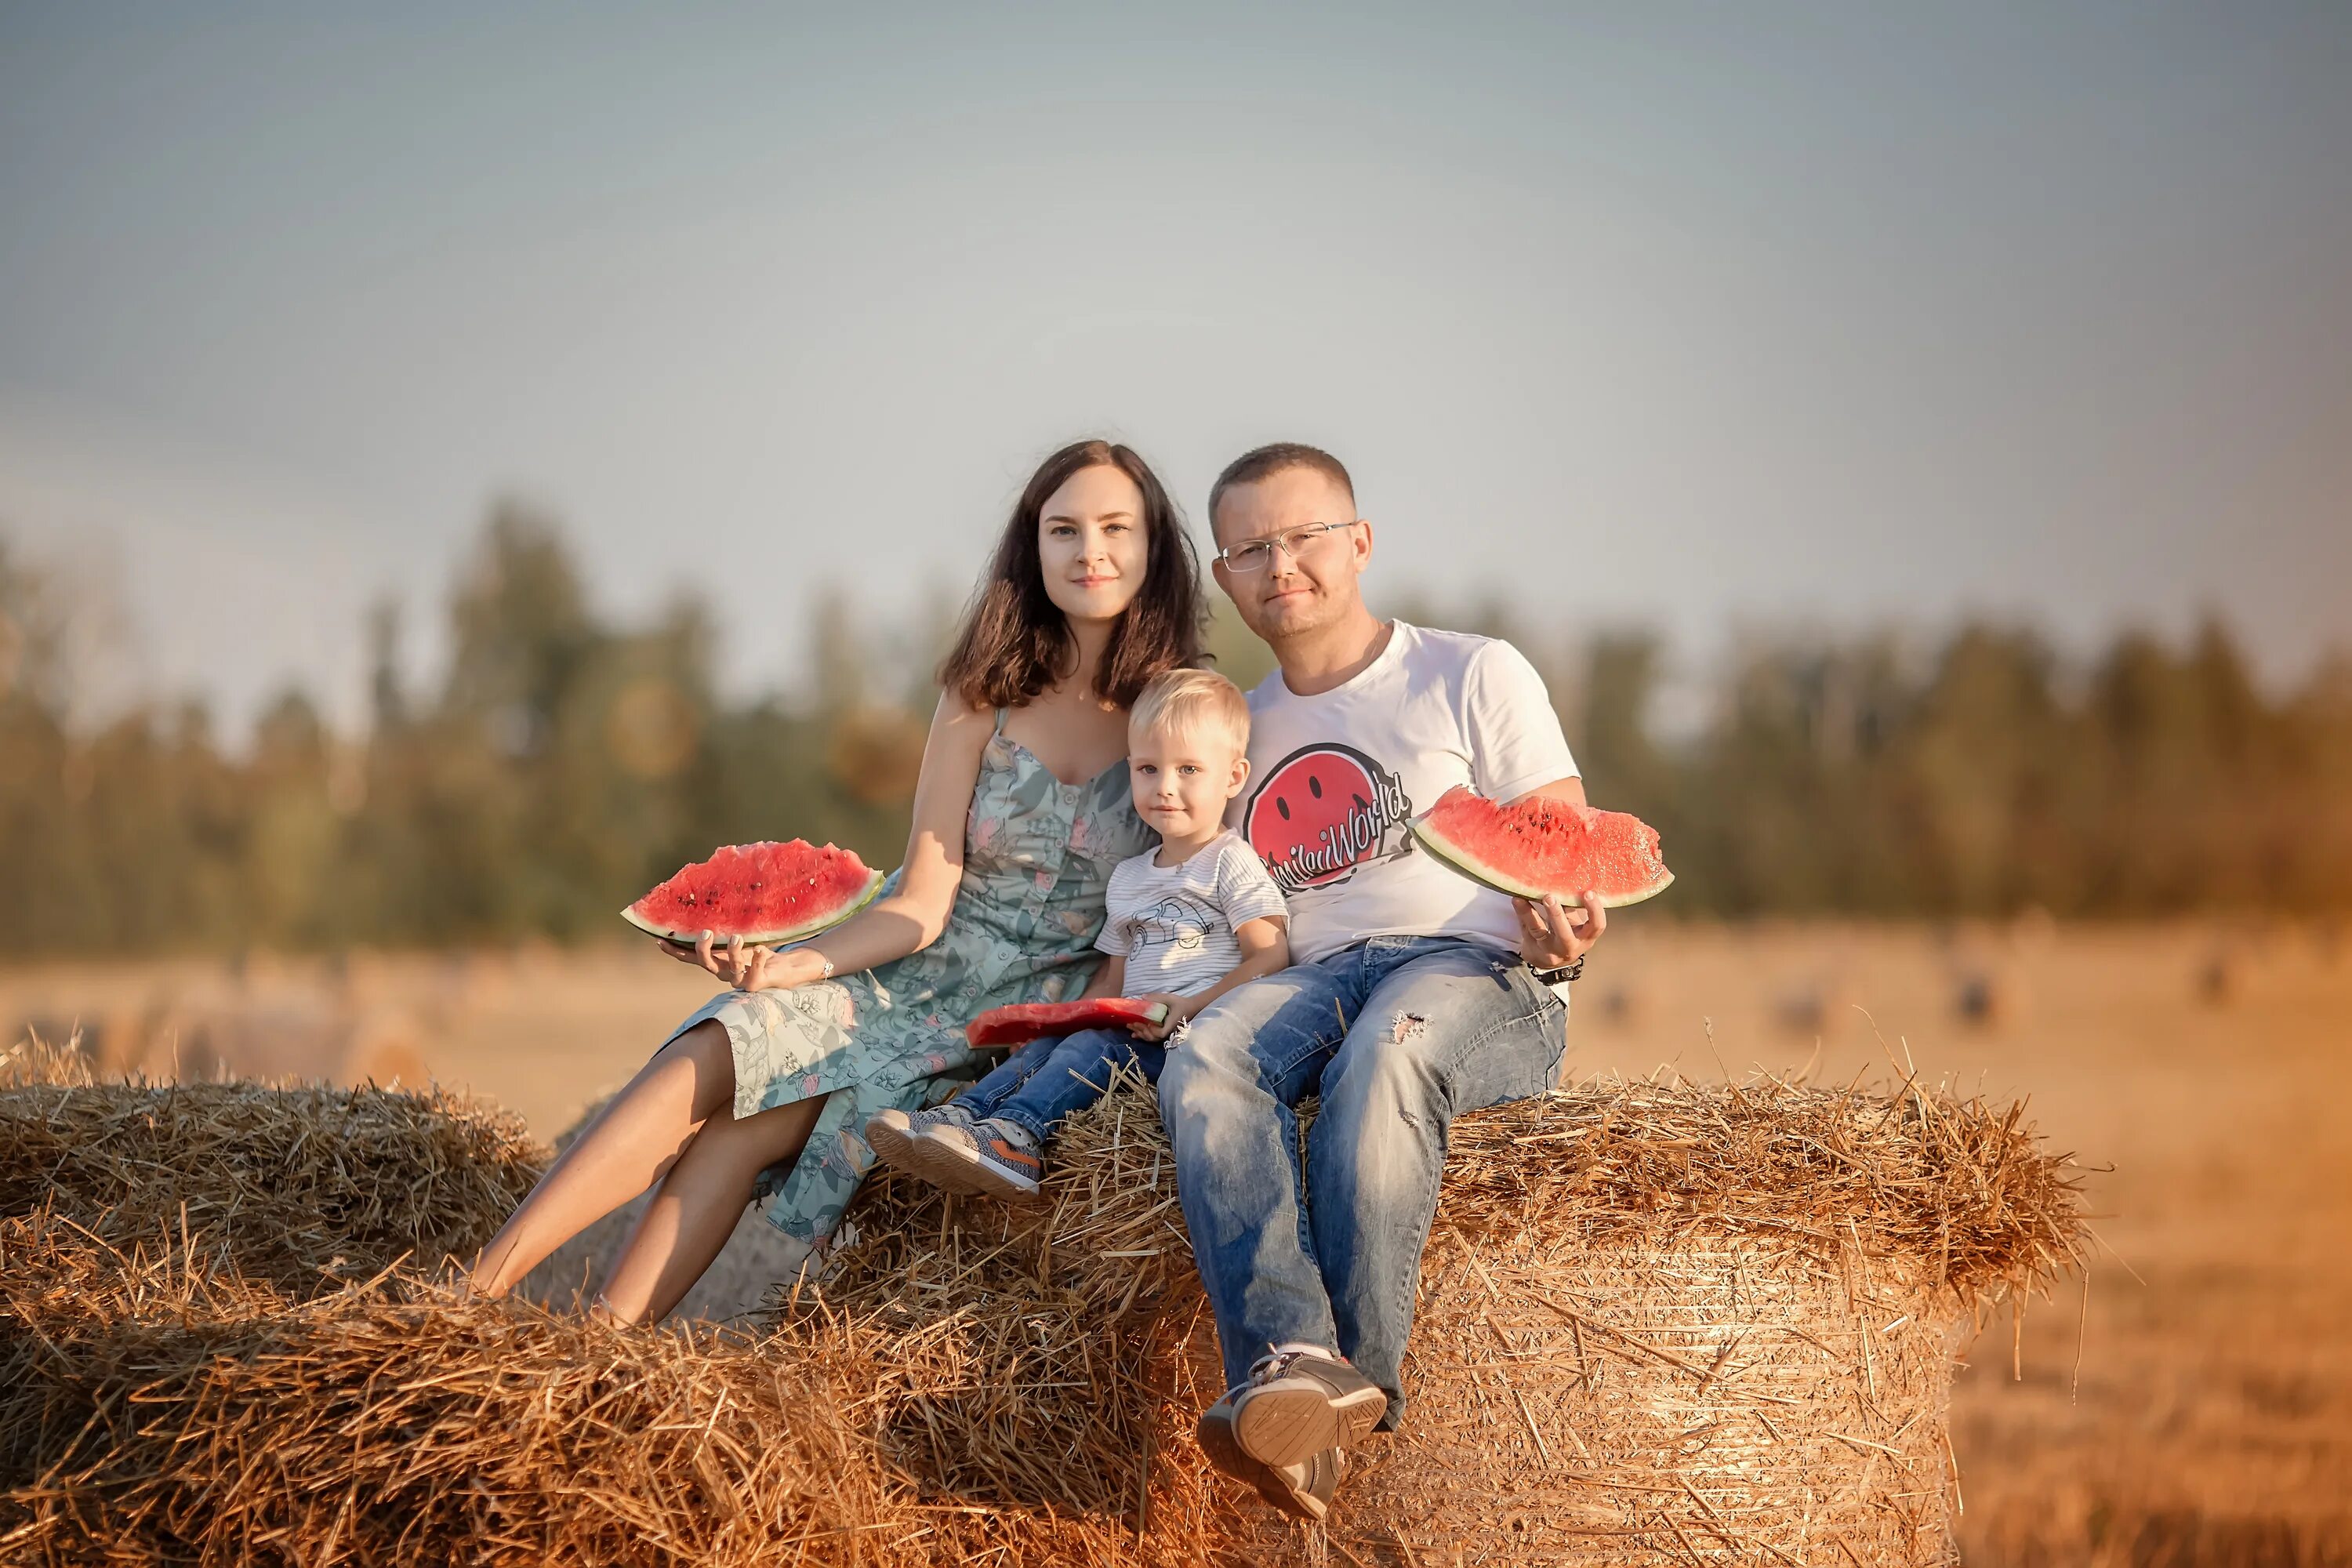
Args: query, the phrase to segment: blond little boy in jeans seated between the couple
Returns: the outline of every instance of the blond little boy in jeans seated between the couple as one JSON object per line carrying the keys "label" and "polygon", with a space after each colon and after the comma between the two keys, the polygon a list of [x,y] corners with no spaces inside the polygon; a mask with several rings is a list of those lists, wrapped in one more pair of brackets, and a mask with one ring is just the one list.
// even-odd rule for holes
{"label": "blond little boy in jeans seated between the couple", "polygon": [[1134,1063],[1160,1081],[1160,1041],[1235,985],[1289,966],[1282,893],[1223,825],[1249,778],[1247,748],[1249,701],[1211,670],[1169,670],[1127,719],[1129,788],[1160,851],[1112,867],[1094,943],[1110,957],[1084,994],[1160,1001],[1167,1018],[1033,1039],[946,1105],[873,1117],[866,1143],[884,1164],[950,1192],[1030,1197],[1044,1140],[1103,1098],[1115,1067]]}

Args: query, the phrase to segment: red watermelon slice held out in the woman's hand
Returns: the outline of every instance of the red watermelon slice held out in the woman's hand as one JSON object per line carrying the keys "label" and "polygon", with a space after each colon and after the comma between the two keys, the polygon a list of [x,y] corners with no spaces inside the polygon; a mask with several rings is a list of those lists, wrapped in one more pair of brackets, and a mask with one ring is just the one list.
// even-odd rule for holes
{"label": "red watermelon slice held out in the woman's hand", "polygon": [[797,943],[842,924],[880,889],[882,872],[849,849],[807,839],[727,844],[621,910],[621,919],[689,947],[703,931],[720,945],[736,936],[757,945]]}

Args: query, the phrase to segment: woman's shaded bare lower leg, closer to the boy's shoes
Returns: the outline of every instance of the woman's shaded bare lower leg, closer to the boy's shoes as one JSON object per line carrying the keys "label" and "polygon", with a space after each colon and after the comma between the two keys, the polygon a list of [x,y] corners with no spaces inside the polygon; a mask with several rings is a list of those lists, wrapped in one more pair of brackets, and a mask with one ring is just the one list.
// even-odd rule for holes
{"label": "woman's shaded bare lower leg, closer to the boy's shoes", "polygon": [[670,1166],[612,1265],[597,1309],[621,1324],[661,1319],[727,1246],[760,1171],[800,1159],[826,1095],[736,1121],[710,1117]]}

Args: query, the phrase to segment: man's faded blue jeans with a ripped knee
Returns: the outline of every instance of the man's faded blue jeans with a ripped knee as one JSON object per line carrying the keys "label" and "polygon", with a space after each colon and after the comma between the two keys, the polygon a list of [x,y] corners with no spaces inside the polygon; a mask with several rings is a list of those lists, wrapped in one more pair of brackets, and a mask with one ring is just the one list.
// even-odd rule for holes
{"label": "man's faded blue jeans with a ripped knee", "polygon": [[1176,1037],[1160,1114],[1228,1385],[1272,1345],[1331,1345],[1395,1425],[1446,1128],[1550,1088],[1566,1016],[1517,954],[1376,936],[1225,992]]}

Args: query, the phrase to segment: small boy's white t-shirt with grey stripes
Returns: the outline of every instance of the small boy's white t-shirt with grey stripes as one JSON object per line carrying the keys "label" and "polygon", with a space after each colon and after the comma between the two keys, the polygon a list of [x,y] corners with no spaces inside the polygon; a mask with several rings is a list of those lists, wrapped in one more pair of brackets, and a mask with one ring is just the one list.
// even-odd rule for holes
{"label": "small boy's white t-shirt with grey stripes", "polygon": [[1127,959],[1129,997],[1190,997],[1242,961],[1235,926],[1284,919],[1282,893],[1235,832],[1221,832],[1178,865],[1152,865],[1157,853],[1110,867],[1108,917],[1094,945]]}

